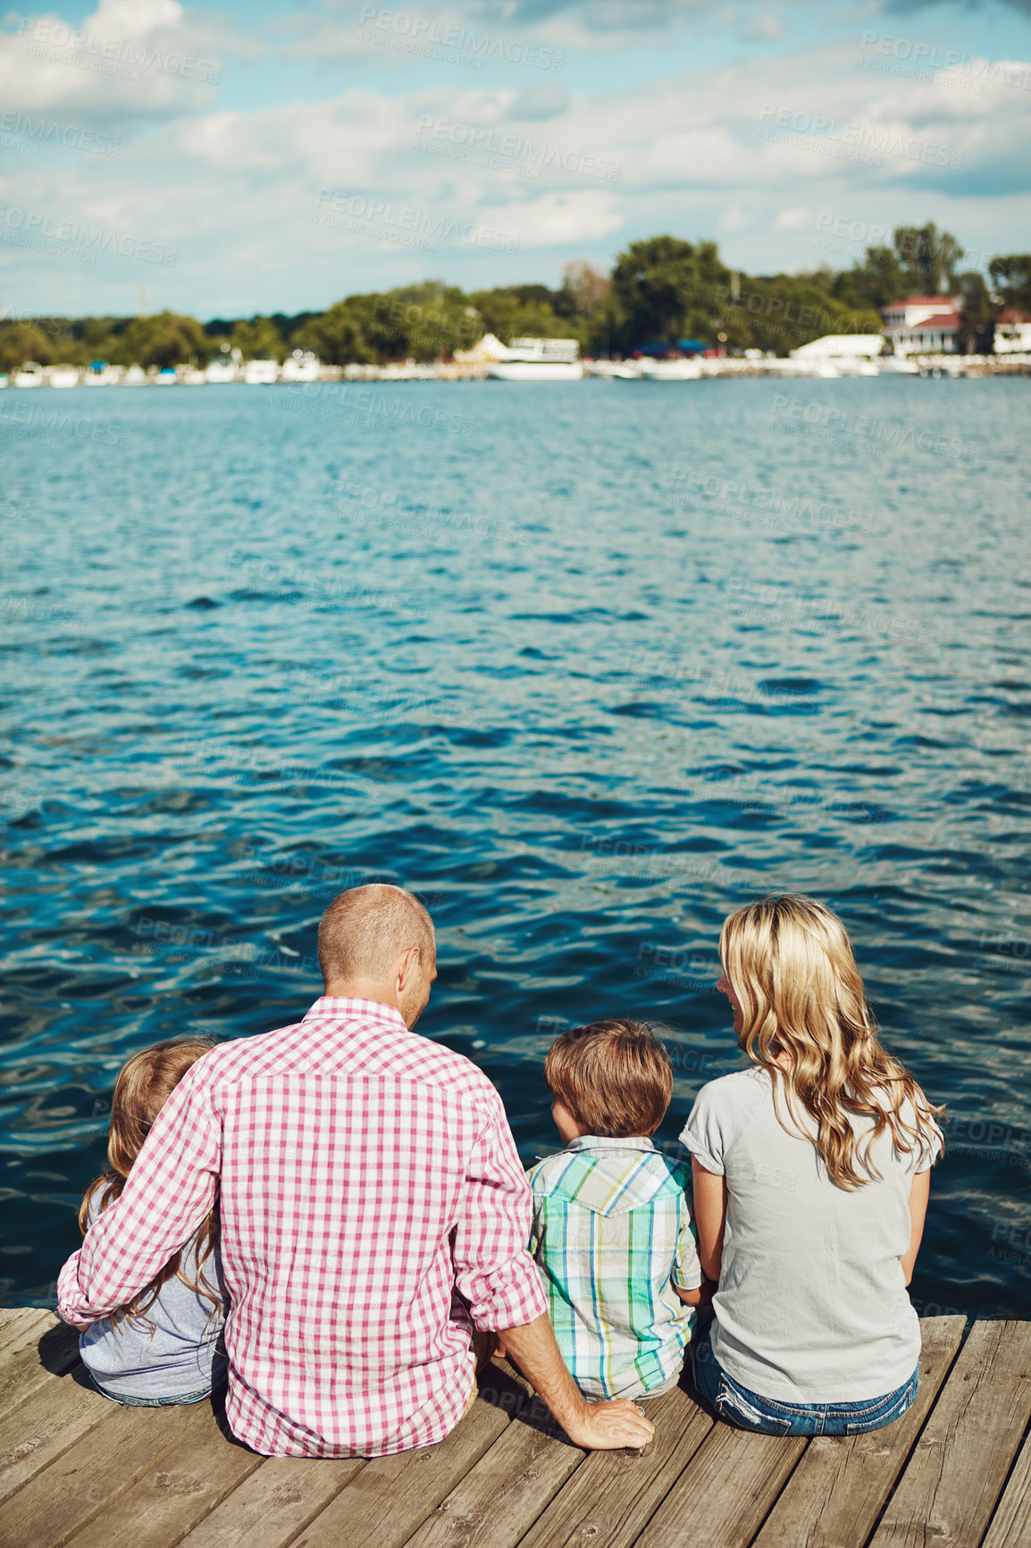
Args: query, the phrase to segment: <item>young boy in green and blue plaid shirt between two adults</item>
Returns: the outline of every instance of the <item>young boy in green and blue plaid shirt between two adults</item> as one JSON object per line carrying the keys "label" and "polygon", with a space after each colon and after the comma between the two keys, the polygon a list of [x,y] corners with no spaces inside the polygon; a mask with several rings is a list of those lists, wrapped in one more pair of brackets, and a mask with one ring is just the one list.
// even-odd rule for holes
{"label": "young boy in green and blue plaid shirt between two adults", "polygon": [[545,1060],[565,1150],[529,1172],[529,1251],[562,1358],[587,1398],[656,1398],[680,1379],[706,1296],[687,1209],[690,1169],[650,1135],[673,1090],[649,1026],[594,1022]]}

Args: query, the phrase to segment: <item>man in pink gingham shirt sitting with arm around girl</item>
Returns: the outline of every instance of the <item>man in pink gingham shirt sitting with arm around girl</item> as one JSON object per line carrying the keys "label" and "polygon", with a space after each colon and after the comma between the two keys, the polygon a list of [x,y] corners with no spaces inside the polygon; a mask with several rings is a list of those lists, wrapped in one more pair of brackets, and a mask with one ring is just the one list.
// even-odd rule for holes
{"label": "man in pink gingham shirt sitting with arm around girl", "polygon": [[341,893],[319,966],[325,995],[297,1026],[223,1043],[180,1082],[65,1263],[62,1317],[124,1305],[217,1197],[226,1415],[255,1450],[384,1457],[443,1440],[474,1389],[463,1299],[577,1446],[646,1444],[635,1404],[585,1402],[562,1364],[497,1091],[412,1033],[437,977],[426,909],[399,887]]}

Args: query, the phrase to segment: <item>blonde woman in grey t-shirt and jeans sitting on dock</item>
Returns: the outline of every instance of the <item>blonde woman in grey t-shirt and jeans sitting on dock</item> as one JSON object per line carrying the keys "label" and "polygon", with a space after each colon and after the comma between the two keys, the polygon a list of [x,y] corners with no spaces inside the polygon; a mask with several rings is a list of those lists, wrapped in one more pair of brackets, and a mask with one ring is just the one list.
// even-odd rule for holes
{"label": "blonde woman in grey t-shirt and jeans sitting on dock", "polygon": [[751,1068],[703,1087],[681,1136],[701,1266],[718,1280],[695,1384],[749,1430],[881,1429],[916,1396],[906,1286],[940,1108],[878,1042],[848,935],[822,904],[732,913],[720,960]]}

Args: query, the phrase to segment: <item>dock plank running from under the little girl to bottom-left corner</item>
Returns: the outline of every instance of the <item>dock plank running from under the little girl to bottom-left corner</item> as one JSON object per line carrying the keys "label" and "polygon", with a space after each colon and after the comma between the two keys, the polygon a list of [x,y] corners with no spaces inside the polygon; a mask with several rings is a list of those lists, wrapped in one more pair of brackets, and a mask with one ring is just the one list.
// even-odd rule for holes
{"label": "dock plank running from under the little girl to bottom-left corner", "polygon": [[130,1489],[203,1418],[204,1407],[124,1409],[107,1406],[101,1424],[37,1472],[8,1500],[0,1548],[46,1543],[59,1548],[119,1494]]}

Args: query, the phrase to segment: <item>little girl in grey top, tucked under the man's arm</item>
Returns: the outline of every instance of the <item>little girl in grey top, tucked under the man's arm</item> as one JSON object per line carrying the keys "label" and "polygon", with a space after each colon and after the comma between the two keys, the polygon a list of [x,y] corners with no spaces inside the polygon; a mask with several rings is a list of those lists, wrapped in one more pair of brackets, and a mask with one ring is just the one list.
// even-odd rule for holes
{"label": "little girl in grey top, tucked under the man's arm", "polygon": [[[121,1195],[155,1118],[190,1065],[211,1048],[211,1039],[180,1037],[155,1043],[124,1065],[111,1104],[111,1170],[87,1189],[79,1211],[84,1235]],[[94,1385],[116,1402],[200,1402],[224,1373],[223,1317],[218,1218],[212,1209],[194,1240],[146,1289],[82,1333],[79,1353]]]}

